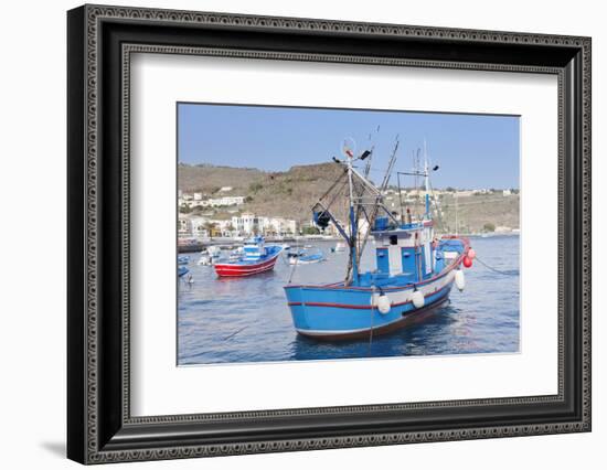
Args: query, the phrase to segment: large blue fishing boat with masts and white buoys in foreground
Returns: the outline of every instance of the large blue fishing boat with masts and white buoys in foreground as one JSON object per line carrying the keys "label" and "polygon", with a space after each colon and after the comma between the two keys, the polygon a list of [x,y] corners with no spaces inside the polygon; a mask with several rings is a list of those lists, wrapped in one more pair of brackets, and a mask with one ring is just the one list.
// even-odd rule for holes
{"label": "large blue fishing boat with masts and white buoys in foreground", "polygon": [[[326,204],[327,200],[336,200],[331,189],[312,207],[312,215],[317,226],[326,228],[332,223],[345,239],[350,255],[345,279],[319,286],[285,286],[298,333],[318,340],[372,338],[424,319],[448,301],[454,284],[464,290],[461,265],[470,267],[475,254],[467,238],[435,237],[427,158],[423,170],[398,172],[398,177],[424,178],[424,213],[414,216],[408,207],[404,210],[401,206],[398,214],[384,205],[383,194],[390,182],[397,148],[398,142],[379,186],[368,178],[369,162],[363,172],[354,167],[356,161],[371,157],[370,150],[354,158],[351,148],[345,148],[345,160],[333,159],[344,168],[332,189],[348,188],[349,227],[342,226],[330,205]],[[370,228],[363,234],[361,226]],[[360,273],[361,255],[370,237],[375,241],[376,268]]]}

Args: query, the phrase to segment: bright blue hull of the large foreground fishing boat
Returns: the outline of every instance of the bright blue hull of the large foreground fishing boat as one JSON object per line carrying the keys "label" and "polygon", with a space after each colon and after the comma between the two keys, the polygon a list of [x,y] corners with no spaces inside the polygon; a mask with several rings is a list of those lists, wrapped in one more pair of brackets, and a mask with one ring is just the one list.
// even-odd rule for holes
{"label": "bright blue hull of the large foreground fishing boat", "polygon": [[[428,282],[402,288],[385,288],[391,308],[381,313],[379,290],[358,287],[287,286],[285,288],[295,329],[317,340],[336,341],[385,334],[422,321],[449,298],[455,270],[449,269]],[[424,306],[416,308],[413,292],[419,290]]]}

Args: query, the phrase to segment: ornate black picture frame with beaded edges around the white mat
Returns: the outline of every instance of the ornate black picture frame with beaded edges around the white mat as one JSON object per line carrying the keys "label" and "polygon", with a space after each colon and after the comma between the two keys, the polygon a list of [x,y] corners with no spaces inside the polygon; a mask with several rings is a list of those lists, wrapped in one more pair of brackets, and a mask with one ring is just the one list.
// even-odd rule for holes
{"label": "ornate black picture frame with beaded edges around the white mat", "polygon": [[[67,31],[68,458],[100,463],[590,430],[590,39],[105,6],[71,10]],[[132,417],[132,52],[556,75],[558,393]]]}

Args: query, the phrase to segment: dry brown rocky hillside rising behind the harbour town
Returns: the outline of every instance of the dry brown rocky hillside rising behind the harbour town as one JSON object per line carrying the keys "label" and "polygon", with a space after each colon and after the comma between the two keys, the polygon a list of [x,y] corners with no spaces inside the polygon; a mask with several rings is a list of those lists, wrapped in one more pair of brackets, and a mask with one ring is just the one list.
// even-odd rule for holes
{"label": "dry brown rocky hillside rising behind the harbour town", "polygon": [[[241,211],[259,215],[273,215],[307,222],[311,206],[334,183],[342,172],[334,163],[292,167],[285,172],[265,172],[252,168],[214,165],[180,165],[179,189],[184,192],[202,192],[207,196],[243,195],[246,203]],[[232,186],[230,192],[219,192],[222,186]],[[394,197],[394,210],[397,199]],[[478,233],[487,227],[507,226],[518,228],[519,195],[503,196],[501,192],[458,199],[457,225],[460,233]],[[387,204],[392,206],[392,203]],[[440,197],[443,209],[439,228],[452,233],[456,227],[456,204],[452,195]],[[235,209],[235,207],[232,207]],[[337,206],[336,215],[344,220],[345,201]],[[219,217],[222,214],[216,214]],[[227,214],[223,214],[227,215]]]}

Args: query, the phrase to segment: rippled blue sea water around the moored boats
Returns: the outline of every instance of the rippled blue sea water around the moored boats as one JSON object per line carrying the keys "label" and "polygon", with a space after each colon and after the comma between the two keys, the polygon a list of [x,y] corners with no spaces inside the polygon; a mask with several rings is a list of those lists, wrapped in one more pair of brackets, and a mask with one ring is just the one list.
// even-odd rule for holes
{"label": "rippled blue sea water around the moored boats", "polygon": [[[178,363],[212,364],[310,361],[519,351],[519,237],[472,237],[478,259],[466,269],[466,289],[425,320],[388,335],[322,343],[298,335],[283,290],[292,267],[279,259],[275,270],[251,278],[219,279],[211,266],[190,256],[194,282],[180,281]],[[343,278],[348,255],[330,253],[334,242],[317,242],[327,261],[297,266],[292,281],[319,284]],[[373,267],[372,246],[363,269]]]}

